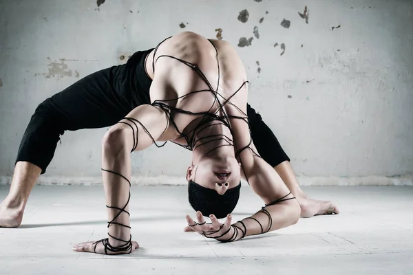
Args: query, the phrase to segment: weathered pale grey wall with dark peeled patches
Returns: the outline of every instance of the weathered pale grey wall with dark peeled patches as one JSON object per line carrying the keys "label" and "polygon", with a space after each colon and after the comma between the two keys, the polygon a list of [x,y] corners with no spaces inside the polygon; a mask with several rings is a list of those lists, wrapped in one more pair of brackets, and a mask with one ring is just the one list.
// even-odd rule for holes
{"label": "weathered pale grey wall with dark peeled patches", "polygon": [[[299,16],[306,5],[308,23]],[[219,28],[246,65],[249,102],[298,175],[413,175],[408,0],[107,0],[99,7],[0,0],[0,175],[12,174],[25,126],[45,98],[167,36],[191,30],[214,38]],[[106,130],[66,132],[46,175],[98,179]],[[166,182],[184,177],[191,159],[172,144],[132,158],[135,176]]]}

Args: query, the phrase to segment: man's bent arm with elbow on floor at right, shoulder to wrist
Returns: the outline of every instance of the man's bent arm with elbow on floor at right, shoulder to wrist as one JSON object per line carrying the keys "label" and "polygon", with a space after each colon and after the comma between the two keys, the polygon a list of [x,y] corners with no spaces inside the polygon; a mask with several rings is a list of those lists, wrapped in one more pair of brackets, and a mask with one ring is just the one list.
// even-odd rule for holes
{"label": "man's bent arm with elbow on floor at right, shoulder to wrist", "polygon": [[[241,111],[246,113],[246,105],[241,108]],[[231,119],[235,151],[244,148],[244,150],[238,152],[242,173],[254,192],[268,205],[253,216],[234,223],[235,230],[244,236],[249,236],[297,223],[300,214],[299,204],[293,199],[290,190],[273,167],[257,153],[257,149],[251,140],[245,114],[240,113],[235,108],[231,108],[230,113],[234,116],[244,117],[244,120]]]}

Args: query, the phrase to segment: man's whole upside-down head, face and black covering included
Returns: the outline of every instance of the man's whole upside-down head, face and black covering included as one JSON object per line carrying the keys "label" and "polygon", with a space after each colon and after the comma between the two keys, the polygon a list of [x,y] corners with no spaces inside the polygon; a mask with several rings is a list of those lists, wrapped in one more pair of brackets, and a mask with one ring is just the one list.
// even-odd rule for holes
{"label": "man's whole upside-down head, face and black covering included", "polygon": [[241,170],[235,157],[202,157],[187,169],[189,203],[207,217],[226,217],[240,197]]}

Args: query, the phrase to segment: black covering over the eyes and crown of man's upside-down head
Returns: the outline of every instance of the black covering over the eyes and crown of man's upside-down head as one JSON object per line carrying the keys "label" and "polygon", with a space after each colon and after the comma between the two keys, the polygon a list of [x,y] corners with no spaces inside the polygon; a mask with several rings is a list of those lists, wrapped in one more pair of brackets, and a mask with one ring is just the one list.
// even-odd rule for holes
{"label": "black covering over the eyes and crown of man's upside-down head", "polygon": [[216,190],[200,186],[195,181],[189,181],[188,199],[192,208],[202,212],[205,217],[214,214],[218,219],[222,219],[237,206],[240,189],[241,181],[236,187],[226,190],[224,195],[220,195]]}

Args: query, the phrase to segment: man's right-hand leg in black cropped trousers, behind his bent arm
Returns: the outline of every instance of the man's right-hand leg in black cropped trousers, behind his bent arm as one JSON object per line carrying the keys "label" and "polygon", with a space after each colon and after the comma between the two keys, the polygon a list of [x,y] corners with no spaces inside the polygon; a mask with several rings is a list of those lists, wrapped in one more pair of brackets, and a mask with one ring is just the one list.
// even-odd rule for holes
{"label": "man's right-hand leg in black cropped trousers, behind his bent arm", "polygon": [[256,113],[247,104],[248,122],[250,124],[251,136],[258,153],[277,171],[290,189],[301,207],[301,217],[313,217],[316,214],[339,213],[337,206],[331,201],[319,201],[310,199],[298,184],[290,165],[290,158],[286,155],[273,131],[262,121],[261,115]]}

